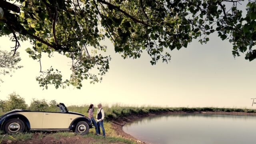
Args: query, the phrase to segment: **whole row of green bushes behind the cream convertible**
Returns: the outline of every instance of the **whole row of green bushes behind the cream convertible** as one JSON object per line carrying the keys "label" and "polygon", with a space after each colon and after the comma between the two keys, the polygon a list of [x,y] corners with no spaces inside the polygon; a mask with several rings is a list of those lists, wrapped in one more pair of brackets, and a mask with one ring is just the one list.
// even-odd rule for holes
{"label": "whole row of green bushes behind the cream convertible", "polygon": [[26,109],[26,110],[38,110],[38,111],[54,111],[56,110],[57,102],[56,100],[47,100],[42,99],[38,100],[33,98],[30,102],[30,105],[26,104],[25,99],[22,98],[19,94],[13,92],[7,96],[7,100],[0,99],[0,109],[2,112],[8,112],[14,109]]}

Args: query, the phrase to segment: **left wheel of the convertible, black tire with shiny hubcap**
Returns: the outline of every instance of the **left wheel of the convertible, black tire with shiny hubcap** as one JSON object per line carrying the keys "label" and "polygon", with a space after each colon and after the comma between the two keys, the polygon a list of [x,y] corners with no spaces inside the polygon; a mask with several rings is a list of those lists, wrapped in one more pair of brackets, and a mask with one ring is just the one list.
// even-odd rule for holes
{"label": "left wheel of the convertible, black tire with shiny hubcap", "polygon": [[4,132],[7,134],[17,134],[19,132],[24,132],[24,130],[25,124],[18,118],[10,119],[4,124]]}

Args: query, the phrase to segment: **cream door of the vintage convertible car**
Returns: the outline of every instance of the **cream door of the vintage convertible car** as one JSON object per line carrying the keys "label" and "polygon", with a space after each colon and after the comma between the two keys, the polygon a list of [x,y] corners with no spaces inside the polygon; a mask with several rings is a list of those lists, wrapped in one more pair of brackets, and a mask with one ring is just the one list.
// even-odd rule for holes
{"label": "cream door of the vintage convertible car", "polygon": [[68,129],[69,114],[62,112],[44,112],[43,129]]}

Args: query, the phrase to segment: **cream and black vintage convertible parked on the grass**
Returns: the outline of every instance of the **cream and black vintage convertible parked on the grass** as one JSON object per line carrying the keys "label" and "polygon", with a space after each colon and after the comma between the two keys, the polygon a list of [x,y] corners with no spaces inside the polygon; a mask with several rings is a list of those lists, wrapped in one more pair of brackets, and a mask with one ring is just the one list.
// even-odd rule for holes
{"label": "cream and black vintage convertible parked on the grass", "polygon": [[5,133],[70,130],[87,134],[92,128],[90,119],[83,114],[68,112],[63,103],[57,105],[57,112],[12,110],[0,117],[0,128]]}

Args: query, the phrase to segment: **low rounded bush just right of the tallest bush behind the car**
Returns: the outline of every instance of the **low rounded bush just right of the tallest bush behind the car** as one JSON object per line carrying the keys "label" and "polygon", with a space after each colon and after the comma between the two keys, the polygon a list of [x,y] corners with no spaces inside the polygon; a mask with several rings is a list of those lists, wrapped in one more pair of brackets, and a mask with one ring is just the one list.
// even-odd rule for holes
{"label": "low rounded bush just right of the tallest bush behind the car", "polygon": [[32,98],[32,102],[30,103],[29,109],[30,110],[38,110],[38,111],[46,111],[46,109],[49,107],[47,104],[47,101],[45,99],[38,100],[35,98]]}

